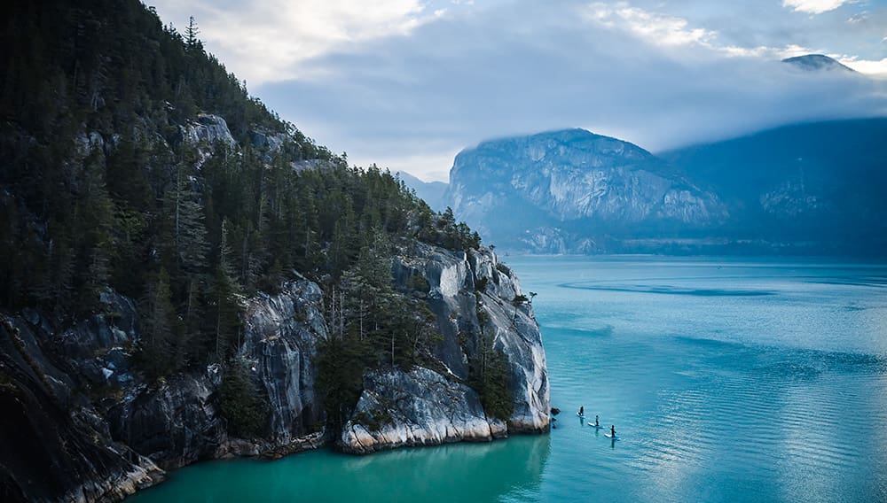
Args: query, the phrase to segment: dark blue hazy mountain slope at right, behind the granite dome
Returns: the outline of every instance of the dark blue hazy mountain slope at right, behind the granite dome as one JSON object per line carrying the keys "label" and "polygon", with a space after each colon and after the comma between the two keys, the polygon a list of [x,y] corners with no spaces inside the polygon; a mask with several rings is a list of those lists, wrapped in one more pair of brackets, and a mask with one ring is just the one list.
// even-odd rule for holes
{"label": "dark blue hazy mountain slope at right, behind the granite dome", "polygon": [[733,215],[729,236],[885,252],[887,119],[786,126],[660,155],[718,193]]}

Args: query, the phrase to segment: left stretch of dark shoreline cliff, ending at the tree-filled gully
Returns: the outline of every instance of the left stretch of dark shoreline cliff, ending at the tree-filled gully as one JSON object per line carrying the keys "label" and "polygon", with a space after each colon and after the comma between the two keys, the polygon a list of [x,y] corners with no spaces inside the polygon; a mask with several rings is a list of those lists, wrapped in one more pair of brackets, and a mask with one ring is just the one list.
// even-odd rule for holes
{"label": "left stretch of dark shoreline cliff, ending at the tree-filled gully", "polygon": [[266,432],[251,438],[232,436],[219,412],[217,365],[156,383],[132,369],[138,313],[128,298],[108,291],[101,313],[68,329],[35,311],[4,315],[4,500],[122,499],[162,480],[158,467],[324,445],[313,363],[326,337],[320,300],[306,281],[247,300],[239,357],[269,405]]}

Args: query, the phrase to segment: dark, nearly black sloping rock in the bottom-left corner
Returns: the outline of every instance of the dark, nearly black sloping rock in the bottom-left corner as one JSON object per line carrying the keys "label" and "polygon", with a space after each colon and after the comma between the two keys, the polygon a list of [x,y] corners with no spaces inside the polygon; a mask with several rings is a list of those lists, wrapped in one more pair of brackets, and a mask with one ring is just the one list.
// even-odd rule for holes
{"label": "dark, nearly black sloping rock in the bottom-left corner", "polygon": [[3,499],[120,500],[161,480],[152,460],[110,439],[102,415],[78,393],[88,384],[56,357],[41,321],[0,315]]}

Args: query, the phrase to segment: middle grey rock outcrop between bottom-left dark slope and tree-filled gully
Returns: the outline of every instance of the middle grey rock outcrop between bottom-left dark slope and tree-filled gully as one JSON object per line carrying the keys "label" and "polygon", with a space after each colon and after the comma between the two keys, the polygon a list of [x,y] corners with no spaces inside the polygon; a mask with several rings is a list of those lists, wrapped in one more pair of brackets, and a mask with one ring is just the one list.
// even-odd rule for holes
{"label": "middle grey rock outcrop between bottom-left dark slope and tree-filled gully", "polygon": [[255,438],[232,437],[216,406],[216,365],[160,386],[141,385],[115,406],[114,437],[164,468],[235,455],[279,457],[323,444],[314,357],[326,338],[317,284],[287,282],[277,295],[247,299],[239,362],[268,400],[270,424]]}

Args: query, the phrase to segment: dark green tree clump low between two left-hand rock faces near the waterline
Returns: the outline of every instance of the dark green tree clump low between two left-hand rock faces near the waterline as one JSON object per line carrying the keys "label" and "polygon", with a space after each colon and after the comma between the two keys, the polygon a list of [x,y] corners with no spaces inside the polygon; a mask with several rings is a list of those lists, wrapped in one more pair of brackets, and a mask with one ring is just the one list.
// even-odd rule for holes
{"label": "dark green tree clump low between two left-hand rock faces near the waterline", "polygon": [[267,423],[268,404],[259,397],[247,368],[239,362],[225,368],[218,404],[233,435],[256,437],[262,434]]}

